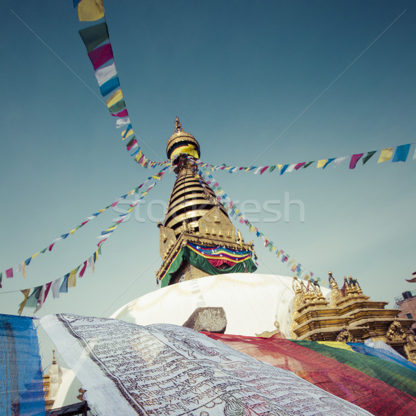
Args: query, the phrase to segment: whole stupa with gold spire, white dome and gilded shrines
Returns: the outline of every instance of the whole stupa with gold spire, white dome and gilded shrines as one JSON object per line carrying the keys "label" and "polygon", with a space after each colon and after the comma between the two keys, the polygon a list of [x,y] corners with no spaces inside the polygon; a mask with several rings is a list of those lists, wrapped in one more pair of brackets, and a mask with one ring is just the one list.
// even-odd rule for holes
{"label": "whole stupa with gold spire, white dome and gilded shrines", "polygon": [[[257,270],[253,242],[245,243],[209,183],[198,171],[200,146],[178,118],[166,148],[177,175],[159,227],[162,266],[159,290],[116,311],[112,318],[183,325],[200,308],[222,308],[225,333],[364,343],[383,341],[416,363],[413,320],[397,318],[388,302],[370,300],[357,279],[342,288],[329,272],[328,288],[297,277],[251,274]],[[206,328],[207,331],[211,329]]]}

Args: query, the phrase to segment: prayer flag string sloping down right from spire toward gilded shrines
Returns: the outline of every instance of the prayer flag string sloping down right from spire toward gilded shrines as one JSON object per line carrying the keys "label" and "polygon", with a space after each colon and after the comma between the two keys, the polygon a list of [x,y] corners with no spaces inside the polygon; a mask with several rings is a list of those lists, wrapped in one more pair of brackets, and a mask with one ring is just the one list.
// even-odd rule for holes
{"label": "prayer flag string sloping down right from spire toward gilded shrines", "polygon": [[[274,252],[279,258],[281,255],[281,262],[284,263],[288,268],[290,268],[298,277],[303,277],[306,280],[310,280],[313,277],[313,272],[308,272],[306,268],[302,267],[301,263],[297,263],[295,259],[291,259],[291,261],[288,261],[291,256],[289,254],[285,254],[284,250],[280,250],[277,248],[277,245],[273,243],[268,237],[266,237],[263,232],[261,232],[257,227],[252,225],[248,218],[246,218],[241,211],[236,208],[236,205],[234,202],[227,196],[227,193],[223,189],[220,188],[218,182],[216,179],[207,171],[207,169],[202,168],[203,174],[205,174],[205,179],[207,184],[211,184],[211,188],[216,193],[216,196],[220,202],[223,203],[223,206],[227,211],[229,212],[229,215],[231,217],[236,216],[236,218],[239,220],[241,224],[247,225],[250,232],[254,232],[257,237],[261,238],[263,240],[264,246],[269,249],[270,252]],[[203,182],[200,181],[202,186],[204,186]],[[218,191],[219,190],[219,191]],[[320,277],[317,278],[318,281],[321,281]]]}

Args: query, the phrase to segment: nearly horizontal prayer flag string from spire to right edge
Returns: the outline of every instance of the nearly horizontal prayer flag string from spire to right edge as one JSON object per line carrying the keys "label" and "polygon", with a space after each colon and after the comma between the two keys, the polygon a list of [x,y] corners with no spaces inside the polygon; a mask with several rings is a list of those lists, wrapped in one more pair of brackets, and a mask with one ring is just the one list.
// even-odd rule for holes
{"label": "nearly horizontal prayer flag string from spire to right edge", "polygon": [[[345,160],[349,159],[349,168],[355,169],[358,162],[360,160],[363,161],[363,165],[365,165],[377,152],[380,153],[379,161],[377,163],[386,162],[391,159],[392,162],[406,162],[408,158],[408,154],[410,151],[411,144],[403,144],[401,146],[397,146],[396,148],[385,148],[382,150],[372,150],[367,153],[356,153],[352,156],[341,156],[341,157],[330,157],[328,159],[318,159],[318,162],[316,162],[316,167],[319,168],[327,168],[329,164],[333,162],[333,167],[336,168],[341,163],[345,162]],[[393,155],[394,153],[394,155]],[[416,159],[416,149],[415,149],[415,155],[413,156],[413,159]],[[257,173],[260,173],[262,175],[263,173],[271,173],[272,171],[277,170],[279,171],[280,175],[283,175],[284,173],[290,173],[293,171],[298,171],[300,168],[309,168],[312,164],[314,164],[315,161],[312,162],[300,162],[295,164],[276,164],[272,166],[227,166],[225,164],[222,165],[211,165],[206,164],[203,162],[199,162],[198,166],[200,168],[210,170],[211,172],[215,171],[228,171],[229,173],[236,173],[236,172],[253,172],[254,175],[257,175]]]}

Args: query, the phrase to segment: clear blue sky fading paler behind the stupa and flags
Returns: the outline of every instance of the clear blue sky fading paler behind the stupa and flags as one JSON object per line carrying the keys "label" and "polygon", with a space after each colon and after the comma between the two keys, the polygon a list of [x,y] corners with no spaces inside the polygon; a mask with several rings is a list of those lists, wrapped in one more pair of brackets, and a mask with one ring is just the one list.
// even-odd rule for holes
{"label": "clear blue sky fading paler behind the stupa and flags", "polygon": [[[166,159],[175,116],[211,164],[308,162],[415,141],[414,2],[104,4],[130,119],[155,160]],[[3,272],[156,172],[126,152],[99,99],[78,35],[82,27],[70,0],[1,3]],[[282,176],[214,176],[232,199],[260,206],[280,200],[282,214],[285,193],[302,201],[304,222],[295,204],[286,209],[286,222],[265,222],[271,218],[265,211],[247,215],[323,280],[328,270],[340,284],[353,275],[372,300],[393,306],[395,296],[416,288],[404,280],[416,271],[415,170],[411,156],[406,164],[376,164],[374,157],[354,171],[344,162]],[[157,201],[166,202],[173,181],[166,175],[148,194],[148,202],[156,200],[155,217],[163,218]],[[52,253],[40,254],[26,279],[3,277],[1,291],[69,272],[94,252],[95,237],[116,215],[103,214]],[[103,245],[95,274],[87,272],[61,300],[48,299],[40,315],[108,316],[154,290],[159,234],[155,222],[137,219]],[[236,226],[254,239],[259,272],[291,275],[261,240]],[[16,313],[22,298],[1,295],[0,312]]]}

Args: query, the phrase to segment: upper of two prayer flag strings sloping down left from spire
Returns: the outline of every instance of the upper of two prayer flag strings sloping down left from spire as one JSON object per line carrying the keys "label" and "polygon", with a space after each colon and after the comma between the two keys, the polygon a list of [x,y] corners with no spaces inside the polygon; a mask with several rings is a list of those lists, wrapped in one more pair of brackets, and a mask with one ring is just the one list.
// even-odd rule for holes
{"label": "upper of two prayer flag strings sloping down left from spire", "polygon": [[[114,202],[112,202],[110,205],[107,205],[107,207],[102,208],[102,209],[98,209],[98,211],[94,214],[92,214],[91,216],[87,217],[87,219],[85,221],[83,221],[83,223],[81,223],[80,225],[77,225],[75,228],[71,229],[70,232],[64,233],[62,234],[60,237],[58,237],[58,239],[55,239],[53,241],[53,243],[46,245],[46,247],[40,251],[38,251],[37,253],[33,254],[31,257],[28,257],[28,259],[26,259],[25,261],[22,261],[21,263],[19,263],[16,267],[15,267],[15,271],[17,272],[22,272],[23,277],[26,277],[26,267],[29,266],[29,264],[31,263],[31,261],[37,257],[37,255],[39,254],[44,254],[46,252],[51,252],[53,246],[55,245],[55,243],[57,243],[58,241],[67,239],[67,237],[69,235],[72,235],[74,232],[76,232],[76,230],[80,229],[81,227],[83,227],[84,225],[86,225],[87,223],[89,223],[90,220],[93,220],[94,218],[96,218],[98,215],[102,214],[103,212],[107,211],[107,209],[109,209],[110,207],[115,207],[119,202],[121,202],[122,200],[125,200],[125,198],[127,198],[130,195],[133,195],[134,193],[139,193],[139,189],[141,189],[141,187],[146,186],[146,184],[152,180],[152,179],[157,179],[157,180],[161,180],[164,173],[166,172],[166,169],[168,168],[168,166],[165,166],[162,171],[159,171],[159,173],[157,173],[156,175],[150,176],[146,179],[145,182],[143,182],[142,184],[140,184],[138,187],[136,187],[135,189],[132,189],[131,191],[128,191],[128,193],[125,193],[125,195],[120,196],[119,198],[117,198],[116,200],[114,200]],[[150,187],[146,190],[146,193],[152,189],[155,186],[155,184],[150,185]],[[143,198],[144,196],[146,196],[146,193],[141,193],[141,198]],[[139,198],[139,200],[141,199]],[[131,207],[131,205],[130,205]],[[121,216],[119,216],[119,220],[117,220],[117,223],[120,223],[121,220],[123,218],[123,215],[127,215],[127,214],[121,214]],[[108,230],[106,230],[108,231]],[[114,231],[114,229],[112,229],[112,231]],[[103,232],[105,234],[105,232]],[[8,270],[6,270],[6,277],[8,278],[12,278],[14,277],[14,272],[13,272],[13,268],[9,268]],[[1,276],[2,273],[0,275],[0,288],[1,286]]]}

